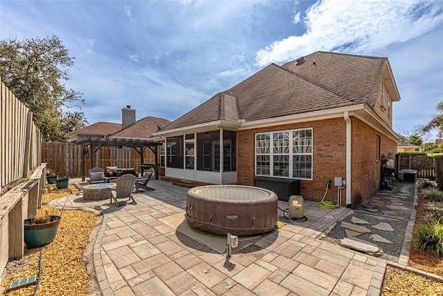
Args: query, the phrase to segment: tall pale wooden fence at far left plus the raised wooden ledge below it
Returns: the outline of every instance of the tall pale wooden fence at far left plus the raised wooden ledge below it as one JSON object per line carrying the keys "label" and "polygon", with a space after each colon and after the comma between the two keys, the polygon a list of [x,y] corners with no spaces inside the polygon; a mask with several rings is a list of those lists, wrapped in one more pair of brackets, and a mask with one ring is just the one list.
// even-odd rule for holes
{"label": "tall pale wooden fence at far left plus the raised wooden ledge below it", "polygon": [[0,79],[0,279],[8,260],[24,254],[24,219],[42,206],[45,173],[33,114]]}

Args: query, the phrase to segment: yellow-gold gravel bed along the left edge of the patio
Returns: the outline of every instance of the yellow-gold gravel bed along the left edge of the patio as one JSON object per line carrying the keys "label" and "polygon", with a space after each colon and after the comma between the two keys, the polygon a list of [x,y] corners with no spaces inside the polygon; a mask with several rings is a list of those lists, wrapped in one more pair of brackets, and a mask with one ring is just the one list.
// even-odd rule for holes
{"label": "yellow-gold gravel bed along the left edge of the patio", "polygon": [[[67,189],[56,189],[55,185],[48,185],[47,188],[44,205],[37,211],[37,216],[46,212],[60,215],[59,209],[46,204],[78,191],[74,185],[69,185]],[[84,252],[97,220],[95,214],[87,211],[65,209],[62,212],[57,236],[52,243],[42,247],[42,276],[37,295],[100,295],[93,278],[92,252]],[[6,265],[1,286],[6,288],[10,281],[38,275],[38,265],[39,248],[26,248],[23,259],[10,261]],[[8,295],[33,295],[35,287],[10,290]]]}

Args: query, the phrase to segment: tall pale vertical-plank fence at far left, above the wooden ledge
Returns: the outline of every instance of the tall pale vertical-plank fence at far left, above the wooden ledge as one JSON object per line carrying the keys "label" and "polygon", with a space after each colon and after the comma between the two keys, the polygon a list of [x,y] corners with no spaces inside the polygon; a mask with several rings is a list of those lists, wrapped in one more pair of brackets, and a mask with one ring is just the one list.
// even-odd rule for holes
{"label": "tall pale vertical-plank fence at far left, above the wooden ledge", "polygon": [[28,108],[3,82],[0,88],[0,186],[3,188],[26,177],[42,163],[42,137]]}

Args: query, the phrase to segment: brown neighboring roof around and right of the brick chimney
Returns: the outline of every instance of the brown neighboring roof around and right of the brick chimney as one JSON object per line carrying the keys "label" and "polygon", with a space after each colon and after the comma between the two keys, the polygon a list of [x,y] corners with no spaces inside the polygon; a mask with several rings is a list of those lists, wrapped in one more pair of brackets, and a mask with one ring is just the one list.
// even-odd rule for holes
{"label": "brown neighboring roof around and right of the brick chimney", "polygon": [[149,139],[154,132],[158,132],[165,125],[170,123],[168,119],[161,119],[158,117],[147,116],[144,119],[139,119],[134,125],[120,130],[115,134],[111,134],[112,138],[134,138],[134,139]]}

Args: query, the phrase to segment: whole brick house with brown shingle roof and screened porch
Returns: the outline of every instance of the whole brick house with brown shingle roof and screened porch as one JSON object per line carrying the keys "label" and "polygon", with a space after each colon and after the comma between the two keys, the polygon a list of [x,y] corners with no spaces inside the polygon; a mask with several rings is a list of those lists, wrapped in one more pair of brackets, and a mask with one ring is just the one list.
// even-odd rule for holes
{"label": "whole brick house with brown shingle roof and screened porch", "polygon": [[388,58],[318,51],[270,64],[154,135],[165,139],[169,179],[300,180],[300,195],[315,201],[333,180],[326,199],[356,207],[379,190],[382,157],[397,150],[399,100]]}

